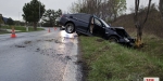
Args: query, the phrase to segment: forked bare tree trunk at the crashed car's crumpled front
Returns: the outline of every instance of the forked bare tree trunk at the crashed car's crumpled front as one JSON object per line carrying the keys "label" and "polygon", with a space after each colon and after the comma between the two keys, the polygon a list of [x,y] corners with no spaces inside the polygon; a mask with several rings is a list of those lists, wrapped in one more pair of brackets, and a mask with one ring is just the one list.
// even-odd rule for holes
{"label": "forked bare tree trunk at the crashed car's crumpled front", "polygon": [[140,0],[135,0],[135,16],[134,16],[134,22],[135,22],[135,26],[137,28],[137,39],[136,39],[136,45],[138,48],[140,48],[142,45],[141,42],[141,37],[142,37],[142,29],[143,29],[143,25],[147,22],[148,18],[148,14],[149,14],[149,10],[150,10],[150,5],[151,5],[151,0],[149,0],[148,3],[148,10],[147,10],[147,14],[143,21],[138,19],[138,17],[140,15],[138,15],[138,11],[139,11],[139,4],[140,4]]}

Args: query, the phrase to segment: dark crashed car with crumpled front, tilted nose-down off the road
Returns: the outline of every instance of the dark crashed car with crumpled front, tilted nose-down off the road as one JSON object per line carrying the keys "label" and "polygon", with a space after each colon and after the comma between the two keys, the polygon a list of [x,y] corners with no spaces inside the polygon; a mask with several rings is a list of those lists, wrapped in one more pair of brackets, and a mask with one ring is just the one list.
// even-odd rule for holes
{"label": "dark crashed car with crumpled front, tilted nose-down off the road", "polygon": [[67,33],[76,31],[77,35],[98,36],[106,40],[133,45],[135,39],[123,27],[111,27],[96,15],[86,13],[63,14],[60,25],[65,27]]}

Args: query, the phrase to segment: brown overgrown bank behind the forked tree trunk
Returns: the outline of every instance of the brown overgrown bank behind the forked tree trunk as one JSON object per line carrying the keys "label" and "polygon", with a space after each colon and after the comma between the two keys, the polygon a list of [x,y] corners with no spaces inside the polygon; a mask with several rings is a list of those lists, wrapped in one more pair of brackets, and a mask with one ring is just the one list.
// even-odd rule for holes
{"label": "brown overgrown bank behind the forked tree trunk", "polygon": [[[156,8],[156,6],[155,6]],[[142,23],[146,16],[146,12],[139,14],[139,21]],[[133,32],[136,32],[136,27],[135,27],[135,22],[134,22],[134,13],[133,14],[127,14],[120,16],[116,22],[112,23],[112,26],[115,27],[124,27],[125,30],[131,35]],[[150,10],[148,19],[143,26],[143,32],[142,33],[148,33],[148,35],[155,35],[158,37],[163,38],[163,19],[160,14],[160,12],[156,9]],[[142,35],[143,36],[143,35]]]}

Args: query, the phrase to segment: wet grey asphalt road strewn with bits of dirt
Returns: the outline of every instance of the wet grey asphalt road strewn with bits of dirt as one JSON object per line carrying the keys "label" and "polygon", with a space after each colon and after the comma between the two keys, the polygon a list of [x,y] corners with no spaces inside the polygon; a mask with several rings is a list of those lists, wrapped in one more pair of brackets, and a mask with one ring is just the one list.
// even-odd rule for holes
{"label": "wet grey asphalt road strewn with bits of dirt", "polygon": [[80,81],[77,37],[51,28],[0,35],[0,81]]}

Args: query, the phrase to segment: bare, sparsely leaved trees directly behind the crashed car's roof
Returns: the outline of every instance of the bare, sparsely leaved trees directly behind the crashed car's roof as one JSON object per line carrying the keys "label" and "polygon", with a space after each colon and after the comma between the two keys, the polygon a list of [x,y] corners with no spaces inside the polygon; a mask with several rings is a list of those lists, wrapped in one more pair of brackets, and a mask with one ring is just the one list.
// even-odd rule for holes
{"label": "bare, sparsely leaved trees directly behind the crashed car's roof", "polygon": [[77,0],[70,8],[71,13],[95,14],[106,22],[116,21],[116,17],[126,11],[126,0]]}

